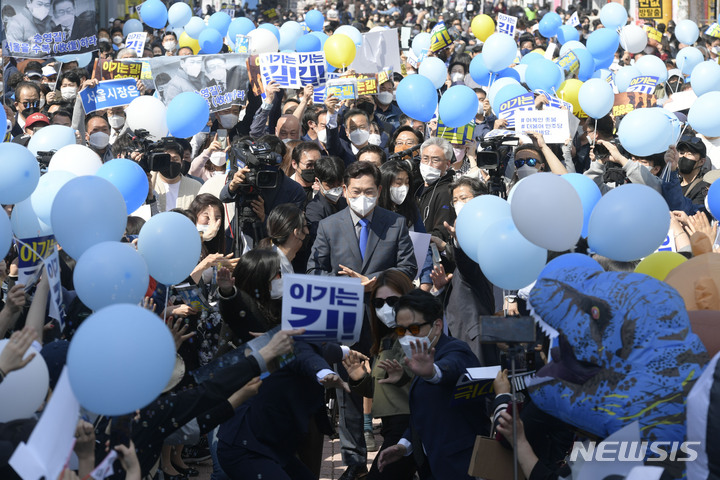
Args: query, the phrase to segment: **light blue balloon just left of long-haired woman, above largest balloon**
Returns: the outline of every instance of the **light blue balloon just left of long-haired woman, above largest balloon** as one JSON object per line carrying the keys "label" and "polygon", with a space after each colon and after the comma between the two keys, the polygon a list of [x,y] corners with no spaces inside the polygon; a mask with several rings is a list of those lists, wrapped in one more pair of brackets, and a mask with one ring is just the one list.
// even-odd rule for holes
{"label": "light blue balloon just left of long-haired woman, above largest balloon", "polygon": [[[168,242],[172,232],[172,242]],[[145,222],[138,236],[138,252],[145,258],[150,275],[165,285],[180,283],[200,259],[200,236],[185,215],[163,212]]]}

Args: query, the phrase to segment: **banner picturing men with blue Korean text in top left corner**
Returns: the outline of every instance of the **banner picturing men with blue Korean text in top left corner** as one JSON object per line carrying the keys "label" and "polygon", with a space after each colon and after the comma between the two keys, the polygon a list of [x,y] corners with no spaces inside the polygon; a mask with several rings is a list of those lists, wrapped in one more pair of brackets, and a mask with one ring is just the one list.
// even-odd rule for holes
{"label": "banner picturing men with blue Korean text in top left corner", "polygon": [[[97,50],[94,0],[46,2],[48,12],[38,20],[38,6],[26,0],[2,0],[7,55],[18,58],[47,58]],[[34,4],[35,2],[33,2]],[[8,10],[9,9],[9,10]],[[13,11],[6,15],[6,10]],[[42,12],[42,10],[40,10]]]}

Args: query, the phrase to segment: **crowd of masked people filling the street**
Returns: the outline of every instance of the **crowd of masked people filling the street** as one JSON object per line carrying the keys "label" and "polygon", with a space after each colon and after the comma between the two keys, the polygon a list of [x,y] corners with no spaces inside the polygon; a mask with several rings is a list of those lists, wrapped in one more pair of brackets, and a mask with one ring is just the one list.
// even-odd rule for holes
{"label": "crowd of masked people filling the street", "polygon": [[[35,4],[41,2],[27,3],[36,12]],[[56,8],[74,6],[66,0],[52,3]],[[197,3],[196,15],[214,13],[211,7],[203,12]],[[290,90],[270,82],[262,96],[248,89],[242,105],[211,113],[203,132],[163,139],[160,153],[169,162],[146,169],[147,198],[128,212],[122,241],[136,244],[142,226],[159,213],[178,212],[189,218],[201,237],[202,254],[187,281],[198,287],[208,309],[186,303],[171,285],[151,281],[144,306],[167,320],[182,371],[161,396],[134,415],[109,418],[83,410],[76,432],[77,458],[63,478],[87,478],[114,449],[120,455],[113,478],[185,480],[198,475],[193,462],[212,457],[213,480],[317,479],[323,443],[333,435],[339,435],[346,467],[342,480],[471,478],[468,469],[478,435],[502,440],[508,449],[515,444],[526,478],[569,475],[565,459],[573,440],[587,436],[578,431],[582,421],[561,421],[552,411],[542,411],[533,405],[532,391],[513,398],[512,378],[508,379],[512,358],[524,372],[552,367],[551,338],[538,329],[537,341],[516,353],[505,344],[486,343],[481,332],[481,317],[530,315],[532,284],[517,290],[494,285],[475,252],[466,251],[467,245],[464,249],[458,241],[458,216],[477,197],[507,198],[514,186],[532,175],[578,173],[592,179],[603,195],[628,183],[658,192],[667,203],[674,251],[698,257],[717,248],[717,222],[706,198],[718,178],[720,137],[703,135],[690,126],[689,104],[668,110],[682,130],[676,142],[661,145],[650,155],[624,148],[618,140],[623,119],[616,112],[588,118],[576,110],[577,118],[571,122],[575,128],[564,143],[549,143],[538,132],[509,131],[508,118],[491,102],[492,85],[482,85],[471,75],[473,58],[483,52],[472,22],[481,10],[495,20],[500,14],[515,16],[515,64],[538,53],[557,59],[557,39],[545,38],[539,28],[550,12],[546,5],[508,7],[502,1],[480,5],[465,0],[345,5],[338,0],[307,5],[304,12],[269,4],[254,9],[223,4],[221,10],[232,10],[256,25],[280,27],[301,21],[313,8],[324,13],[327,35],[341,25],[360,32],[378,28],[400,32],[401,27],[409,27],[412,43],[413,37],[444,22],[452,41],[424,54],[439,58],[447,67],[438,96],[456,85],[473,89],[479,105],[471,121],[473,133],[450,141],[438,132],[437,117],[421,121],[403,111],[396,89],[419,68],[418,59],[411,58],[412,49],[401,49],[403,72],[393,72],[373,95],[344,100],[331,95],[316,102],[312,85]],[[566,25],[577,19],[572,28],[580,43],[603,28],[597,10],[558,7],[555,13]],[[46,28],[53,28],[45,16]],[[3,9],[6,21],[13,24]],[[126,48],[124,23],[118,18],[97,29],[93,58],[137,56]],[[680,98],[674,96],[693,91],[694,74],[691,81],[678,61],[679,52],[688,45],[675,36],[674,22],[642,23],[661,38],[650,39],[639,52],[618,47],[607,70],[612,74],[642,57],[656,57],[667,70],[667,80],[653,88],[652,96],[659,105],[669,104]],[[700,26],[700,32],[707,29]],[[7,27],[8,35],[11,31]],[[169,27],[145,25],[144,32],[144,57],[197,53],[181,46],[179,35]],[[398,33],[399,48],[400,41]],[[701,34],[695,47],[703,60],[718,61],[720,37]],[[223,45],[221,53],[229,52],[232,49]],[[61,125],[71,127],[76,143],[103,163],[115,158],[147,163],[144,157],[149,153],[127,124],[125,106],[85,114],[80,92],[98,84],[92,66],[92,62],[79,65],[76,59],[56,63],[52,58],[4,55],[4,141],[27,147],[43,128]],[[568,79],[577,75],[567,72]],[[159,81],[157,85],[148,88],[137,81],[143,96],[170,95],[167,89],[161,91]],[[533,93],[534,108],[548,108],[553,93]],[[489,146],[488,140],[498,131],[516,140],[515,145]],[[656,139],[656,143],[664,141]],[[490,152],[497,164],[487,161]],[[247,161],[238,166],[238,160],[249,155],[263,159],[262,171]],[[42,165],[41,155],[38,161]],[[271,174],[273,181],[259,182],[263,173]],[[627,206],[632,207],[642,209],[642,205]],[[4,209],[8,216],[14,215],[13,205]],[[411,232],[430,234],[426,251],[416,251]],[[172,242],[172,232],[167,232],[167,239]],[[708,240],[709,248],[698,246]],[[46,313],[47,275],[32,289],[18,283],[19,244],[0,262],[0,336],[9,339],[0,347],[0,391],[6,377],[26,367],[32,355],[41,355],[50,372],[49,399],[74,333],[92,314],[74,293],[77,258],[63,251],[62,244],[60,248],[67,314],[62,328]],[[588,248],[586,238],[572,251],[594,258],[610,272],[633,272],[640,260],[599,255]],[[550,252],[548,260],[563,253],[567,252]],[[281,324],[286,301],[282,279],[293,273],[360,279],[365,291],[360,340],[349,346],[316,343],[304,341],[302,331],[279,331],[259,352],[221,364],[213,376],[197,382],[191,372],[217,364],[216,359]],[[27,354],[29,350],[37,353]],[[280,367],[277,357],[291,351],[294,360]],[[710,348],[708,352],[715,353]],[[132,355],[131,346],[128,354]],[[697,361],[704,365],[708,360],[703,356]],[[498,365],[501,371],[493,394],[455,402],[456,386],[466,369]],[[589,364],[575,367],[587,375],[583,378],[596,372]],[[690,386],[694,380],[688,380]],[[523,402],[513,430],[508,405]],[[27,441],[41,415],[0,424],[3,478],[17,477],[8,460],[18,444]],[[373,430],[373,419],[381,422],[381,439]],[[684,424],[684,413],[674,421]],[[120,425],[130,427],[125,441],[114,444],[113,433]],[[712,440],[707,438],[708,444]],[[368,465],[368,452],[377,450]],[[670,461],[663,466],[667,478],[680,478],[682,466]]]}

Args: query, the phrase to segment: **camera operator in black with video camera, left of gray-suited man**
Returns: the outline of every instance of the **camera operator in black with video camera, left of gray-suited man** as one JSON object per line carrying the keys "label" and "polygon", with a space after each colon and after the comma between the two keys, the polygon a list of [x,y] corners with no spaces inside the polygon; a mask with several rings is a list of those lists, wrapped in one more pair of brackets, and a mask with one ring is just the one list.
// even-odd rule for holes
{"label": "camera operator in black with video camera, left of gray-suited man", "polygon": [[283,203],[302,209],[307,198],[305,190],[283,173],[280,155],[265,143],[236,141],[228,155],[237,170],[228,173],[220,200],[236,205],[235,223],[240,225],[233,225],[233,237],[238,238],[236,233],[240,229],[257,244],[267,236],[264,224],[270,211]]}

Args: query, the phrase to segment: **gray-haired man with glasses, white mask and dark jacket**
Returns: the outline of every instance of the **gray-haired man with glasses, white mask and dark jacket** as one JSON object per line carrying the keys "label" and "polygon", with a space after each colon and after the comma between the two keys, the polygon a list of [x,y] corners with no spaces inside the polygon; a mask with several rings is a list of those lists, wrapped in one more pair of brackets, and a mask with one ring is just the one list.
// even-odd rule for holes
{"label": "gray-haired man with glasses, white mask and dark jacket", "polygon": [[444,138],[430,137],[420,147],[420,173],[424,184],[415,196],[425,230],[445,242],[450,241],[445,223],[453,225],[455,222],[449,189],[455,178],[455,171],[450,168],[452,159],[452,145]]}

